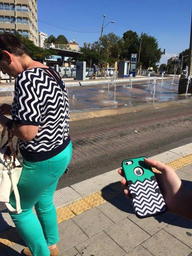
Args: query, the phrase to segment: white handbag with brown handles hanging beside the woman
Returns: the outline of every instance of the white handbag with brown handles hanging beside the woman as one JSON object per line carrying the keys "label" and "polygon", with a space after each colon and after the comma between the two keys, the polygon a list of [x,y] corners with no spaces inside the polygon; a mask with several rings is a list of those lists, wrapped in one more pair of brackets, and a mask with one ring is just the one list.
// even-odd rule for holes
{"label": "white handbag with brown handles hanging beside the woman", "polygon": [[[7,129],[8,141],[2,147],[0,146],[0,202],[4,202],[11,212],[19,214],[22,210],[17,184],[23,167],[17,159],[16,151],[13,149],[11,129],[7,126],[3,128],[1,144]],[[6,146],[8,142],[9,146]],[[16,209],[9,203],[12,191],[14,191],[15,194]]]}

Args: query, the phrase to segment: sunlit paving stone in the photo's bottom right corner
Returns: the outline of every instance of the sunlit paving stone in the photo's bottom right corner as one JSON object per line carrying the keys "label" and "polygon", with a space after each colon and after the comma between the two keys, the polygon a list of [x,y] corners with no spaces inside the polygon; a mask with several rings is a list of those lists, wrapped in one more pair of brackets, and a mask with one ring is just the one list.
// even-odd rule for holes
{"label": "sunlit paving stone in the photo's bottom right corner", "polygon": [[154,256],[186,256],[191,252],[187,245],[163,229],[143,242],[142,246]]}

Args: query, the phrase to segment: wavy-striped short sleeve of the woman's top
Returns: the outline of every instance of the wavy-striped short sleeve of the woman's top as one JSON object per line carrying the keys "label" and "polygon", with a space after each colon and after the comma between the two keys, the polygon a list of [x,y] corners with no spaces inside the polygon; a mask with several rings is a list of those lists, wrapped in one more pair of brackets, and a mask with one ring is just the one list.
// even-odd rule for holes
{"label": "wavy-striped short sleeve of the woman's top", "polygon": [[16,124],[39,126],[41,122],[40,103],[35,85],[28,79],[25,72],[21,73],[15,81],[11,115]]}

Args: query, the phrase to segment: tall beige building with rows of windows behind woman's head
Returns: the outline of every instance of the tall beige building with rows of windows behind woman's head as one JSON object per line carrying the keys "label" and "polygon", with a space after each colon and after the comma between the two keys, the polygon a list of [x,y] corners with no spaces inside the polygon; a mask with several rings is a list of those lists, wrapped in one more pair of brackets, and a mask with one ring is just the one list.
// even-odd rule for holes
{"label": "tall beige building with rows of windows behind woman's head", "polygon": [[38,45],[37,0],[0,2],[0,32],[18,32]]}

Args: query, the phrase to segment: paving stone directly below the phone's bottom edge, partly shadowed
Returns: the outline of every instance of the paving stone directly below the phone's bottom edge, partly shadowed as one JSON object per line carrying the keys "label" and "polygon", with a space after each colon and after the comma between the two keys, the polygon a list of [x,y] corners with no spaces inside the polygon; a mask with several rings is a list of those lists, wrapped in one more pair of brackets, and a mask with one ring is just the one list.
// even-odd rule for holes
{"label": "paving stone directly below the phone's bottom edge, partly shadowed", "polygon": [[135,214],[132,214],[128,218],[150,235],[156,233],[170,222],[162,216],[139,219]]}

